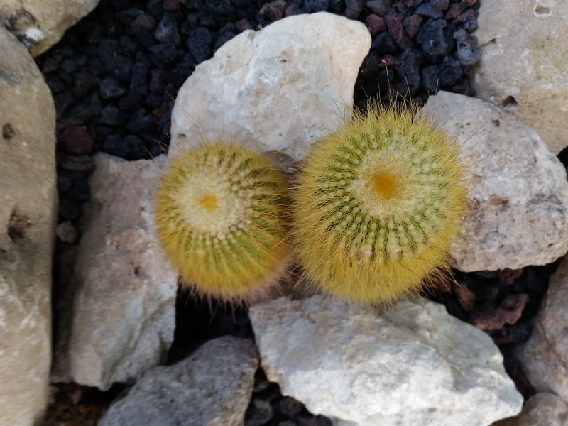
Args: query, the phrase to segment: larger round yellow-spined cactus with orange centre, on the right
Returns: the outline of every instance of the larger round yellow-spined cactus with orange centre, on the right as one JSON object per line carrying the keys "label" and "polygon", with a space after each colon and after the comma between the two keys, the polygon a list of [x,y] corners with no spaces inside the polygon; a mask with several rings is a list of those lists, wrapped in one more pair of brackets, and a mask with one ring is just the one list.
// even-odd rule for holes
{"label": "larger round yellow-spined cactus with orange centre, on the right", "polygon": [[469,209],[459,146],[403,106],[323,138],[298,178],[294,239],[307,278],[360,302],[391,302],[447,271]]}

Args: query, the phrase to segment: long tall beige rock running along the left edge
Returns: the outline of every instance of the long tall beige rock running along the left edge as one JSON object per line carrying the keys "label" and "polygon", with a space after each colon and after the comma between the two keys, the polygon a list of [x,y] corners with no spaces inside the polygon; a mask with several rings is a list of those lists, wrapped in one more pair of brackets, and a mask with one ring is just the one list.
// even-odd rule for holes
{"label": "long tall beige rock running along the left edge", "polygon": [[47,403],[51,361],[55,106],[1,26],[0,70],[0,425],[31,426]]}

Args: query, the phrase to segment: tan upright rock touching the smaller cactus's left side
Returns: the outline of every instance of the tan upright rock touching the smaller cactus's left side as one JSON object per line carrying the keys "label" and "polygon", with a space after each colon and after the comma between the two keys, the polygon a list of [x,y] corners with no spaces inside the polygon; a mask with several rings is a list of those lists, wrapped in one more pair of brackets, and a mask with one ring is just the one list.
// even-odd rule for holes
{"label": "tan upright rock touching the smaller cactus's left side", "polygon": [[74,276],[58,307],[54,379],[106,390],[163,360],[173,342],[178,273],[153,226],[152,194],[164,157],[94,158]]}

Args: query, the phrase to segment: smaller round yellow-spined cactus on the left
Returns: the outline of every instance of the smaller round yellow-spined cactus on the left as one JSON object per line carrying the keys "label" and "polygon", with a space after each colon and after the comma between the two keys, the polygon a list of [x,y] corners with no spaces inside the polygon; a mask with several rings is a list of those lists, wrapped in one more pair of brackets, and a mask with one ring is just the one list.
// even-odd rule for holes
{"label": "smaller round yellow-spined cactus on the left", "polygon": [[285,271],[285,180],[258,153],[205,143],[171,160],[155,197],[158,236],[198,295],[262,297]]}

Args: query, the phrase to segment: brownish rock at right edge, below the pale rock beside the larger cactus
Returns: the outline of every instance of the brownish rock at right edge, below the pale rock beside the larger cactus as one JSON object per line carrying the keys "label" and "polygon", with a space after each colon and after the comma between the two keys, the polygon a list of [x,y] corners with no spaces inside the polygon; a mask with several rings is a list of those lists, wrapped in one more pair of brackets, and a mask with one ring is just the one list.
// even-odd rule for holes
{"label": "brownish rock at right edge, below the pale rock beside the larger cactus", "polygon": [[568,403],[568,257],[550,277],[548,292],[529,341],[518,357],[532,386]]}

